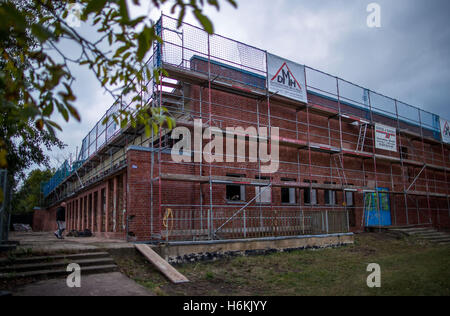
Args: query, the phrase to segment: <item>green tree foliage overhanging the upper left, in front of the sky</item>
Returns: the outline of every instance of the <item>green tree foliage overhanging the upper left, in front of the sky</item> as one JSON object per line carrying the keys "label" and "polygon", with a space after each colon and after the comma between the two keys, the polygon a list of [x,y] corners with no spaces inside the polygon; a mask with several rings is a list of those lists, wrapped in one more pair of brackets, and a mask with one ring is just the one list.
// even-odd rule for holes
{"label": "green tree foliage overhanging the upper left, in front of the sky", "polygon": [[[131,1],[134,5],[150,2],[156,8],[169,3],[172,13],[178,13],[179,25],[191,11],[209,33],[214,32],[213,23],[204,9],[220,8],[220,0]],[[8,166],[9,169],[8,155],[13,150],[10,139],[15,138],[15,144],[26,145],[32,135],[36,142],[61,145],[52,139],[55,129],[61,130],[54,121],[55,113],[60,113],[65,121],[81,120],[72,91],[75,78],[70,66],[73,64],[88,67],[114,99],[131,94],[133,101],[142,104],[138,85],[133,81],[142,81],[144,75],[159,81],[164,74],[163,69],[149,69],[145,65],[153,43],[162,39],[155,21],[146,15],[130,16],[131,1],[0,0],[0,112],[7,113],[11,119],[8,128],[17,122],[17,128],[0,135],[0,168]],[[236,7],[235,0],[222,2]],[[95,41],[85,38],[67,23],[74,4],[82,8],[82,23],[95,28]],[[63,40],[80,48],[78,57],[67,56],[60,49]],[[143,106],[138,106],[135,113],[121,110],[113,119],[122,126],[143,124],[147,133],[151,128],[156,130],[164,124],[170,128],[175,124],[166,109],[149,111]]]}

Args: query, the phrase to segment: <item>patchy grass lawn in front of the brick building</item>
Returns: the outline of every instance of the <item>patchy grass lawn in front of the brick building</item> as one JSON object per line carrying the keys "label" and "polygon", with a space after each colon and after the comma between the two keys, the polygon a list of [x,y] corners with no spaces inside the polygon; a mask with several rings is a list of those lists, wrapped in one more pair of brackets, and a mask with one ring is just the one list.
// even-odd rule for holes
{"label": "patchy grass lawn in front of the brick building", "polygon": [[[136,254],[122,272],[157,295],[450,295],[450,246],[383,233],[359,234],[343,248],[295,251],[177,266],[191,281],[173,285]],[[369,263],[381,288],[367,287]]]}

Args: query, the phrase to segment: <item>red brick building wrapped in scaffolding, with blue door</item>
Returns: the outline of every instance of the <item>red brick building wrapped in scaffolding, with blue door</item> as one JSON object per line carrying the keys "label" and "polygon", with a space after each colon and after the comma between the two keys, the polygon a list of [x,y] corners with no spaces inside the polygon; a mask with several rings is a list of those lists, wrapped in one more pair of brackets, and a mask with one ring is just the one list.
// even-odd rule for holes
{"label": "red brick building wrapped in scaffolding, with blue door", "polygon": [[[148,66],[169,76],[144,83],[145,105],[191,131],[194,120],[224,131],[278,127],[278,172],[261,173],[260,159],[176,163],[170,131],[146,137],[102,118],[77,160],[44,185],[35,230],[55,228],[61,201],[68,230],[141,242],[450,228],[448,122],[192,25],[177,29],[167,16],[158,26],[164,45]],[[123,97],[105,117],[135,107]]]}

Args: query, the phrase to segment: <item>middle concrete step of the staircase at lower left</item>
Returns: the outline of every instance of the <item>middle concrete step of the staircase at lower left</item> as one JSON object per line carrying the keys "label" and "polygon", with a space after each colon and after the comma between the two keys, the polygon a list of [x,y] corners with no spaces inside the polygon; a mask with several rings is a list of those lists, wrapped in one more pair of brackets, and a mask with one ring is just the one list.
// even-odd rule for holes
{"label": "middle concrete step of the staircase at lower left", "polygon": [[97,259],[89,259],[89,260],[58,260],[53,262],[46,263],[32,263],[32,264],[20,264],[20,265],[10,265],[0,267],[0,273],[13,273],[13,272],[29,272],[29,271],[41,271],[41,270],[51,270],[51,269],[59,269],[65,268],[70,263],[77,263],[83,269],[84,267],[89,266],[103,266],[114,264],[114,260],[112,258],[97,258]]}

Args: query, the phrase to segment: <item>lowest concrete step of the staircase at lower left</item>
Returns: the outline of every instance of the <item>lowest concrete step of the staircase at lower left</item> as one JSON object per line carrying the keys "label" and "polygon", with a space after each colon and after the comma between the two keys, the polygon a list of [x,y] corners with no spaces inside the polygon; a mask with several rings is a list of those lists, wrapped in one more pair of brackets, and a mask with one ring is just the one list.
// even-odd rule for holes
{"label": "lowest concrete step of the staircase at lower left", "polygon": [[[90,266],[81,268],[81,275],[108,273],[108,272],[115,272],[117,270],[118,267],[115,264]],[[67,272],[66,269],[39,270],[21,273],[0,273],[0,280],[12,280],[23,278],[41,279],[41,278],[68,276],[69,274],[70,272]]]}

